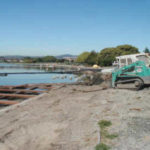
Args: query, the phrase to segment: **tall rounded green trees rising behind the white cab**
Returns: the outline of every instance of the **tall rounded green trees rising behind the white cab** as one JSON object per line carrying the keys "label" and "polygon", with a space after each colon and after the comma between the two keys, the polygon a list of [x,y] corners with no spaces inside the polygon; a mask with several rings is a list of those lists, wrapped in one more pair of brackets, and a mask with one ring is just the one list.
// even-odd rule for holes
{"label": "tall rounded green trees rising behind the white cab", "polygon": [[[150,53],[148,48],[144,52]],[[88,65],[111,66],[116,56],[136,53],[139,53],[139,50],[132,45],[119,45],[117,47],[104,48],[100,52],[83,52],[78,56],[76,62]]]}

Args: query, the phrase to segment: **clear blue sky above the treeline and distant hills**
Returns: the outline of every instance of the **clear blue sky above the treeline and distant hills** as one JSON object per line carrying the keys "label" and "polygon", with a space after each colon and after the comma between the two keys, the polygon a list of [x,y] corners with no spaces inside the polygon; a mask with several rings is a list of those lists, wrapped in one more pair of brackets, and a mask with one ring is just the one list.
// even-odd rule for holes
{"label": "clear blue sky above the treeline and distant hills", "polygon": [[0,0],[0,55],[150,48],[150,0]]}

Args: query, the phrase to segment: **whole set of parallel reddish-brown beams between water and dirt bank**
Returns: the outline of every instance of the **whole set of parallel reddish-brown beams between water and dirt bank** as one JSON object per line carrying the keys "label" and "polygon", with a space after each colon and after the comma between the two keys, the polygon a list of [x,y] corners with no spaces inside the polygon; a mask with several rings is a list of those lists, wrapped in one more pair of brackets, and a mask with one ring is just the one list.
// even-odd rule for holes
{"label": "whole set of parallel reddish-brown beams between water and dirt bank", "polygon": [[13,105],[47,92],[51,84],[25,84],[19,86],[0,86],[0,105]]}

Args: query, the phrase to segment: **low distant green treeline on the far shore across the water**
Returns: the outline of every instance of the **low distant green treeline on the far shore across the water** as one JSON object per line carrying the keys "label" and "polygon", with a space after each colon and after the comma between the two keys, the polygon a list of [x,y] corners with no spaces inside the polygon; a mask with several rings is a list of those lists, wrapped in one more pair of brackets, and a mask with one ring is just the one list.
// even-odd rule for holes
{"label": "low distant green treeline on the far shore across the water", "polygon": [[36,58],[25,57],[23,59],[23,62],[24,63],[46,63],[46,62],[61,62],[61,63],[64,63],[64,62],[68,62],[68,61],[65,60],[65,59],[57,59],[54,56],[45,56],[45,57],[36,57]]}

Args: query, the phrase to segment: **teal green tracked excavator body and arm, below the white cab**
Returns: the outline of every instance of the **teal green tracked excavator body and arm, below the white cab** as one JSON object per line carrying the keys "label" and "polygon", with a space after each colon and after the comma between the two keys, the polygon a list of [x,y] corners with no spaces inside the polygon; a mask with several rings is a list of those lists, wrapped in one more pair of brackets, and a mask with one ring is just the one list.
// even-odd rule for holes
{"label": "teal green tracked excavator body and arm, below the white cab", "polygon": [[150,85],[150,67],[144,61],[136,61],[112,72],[113,88],[142,89]]}

